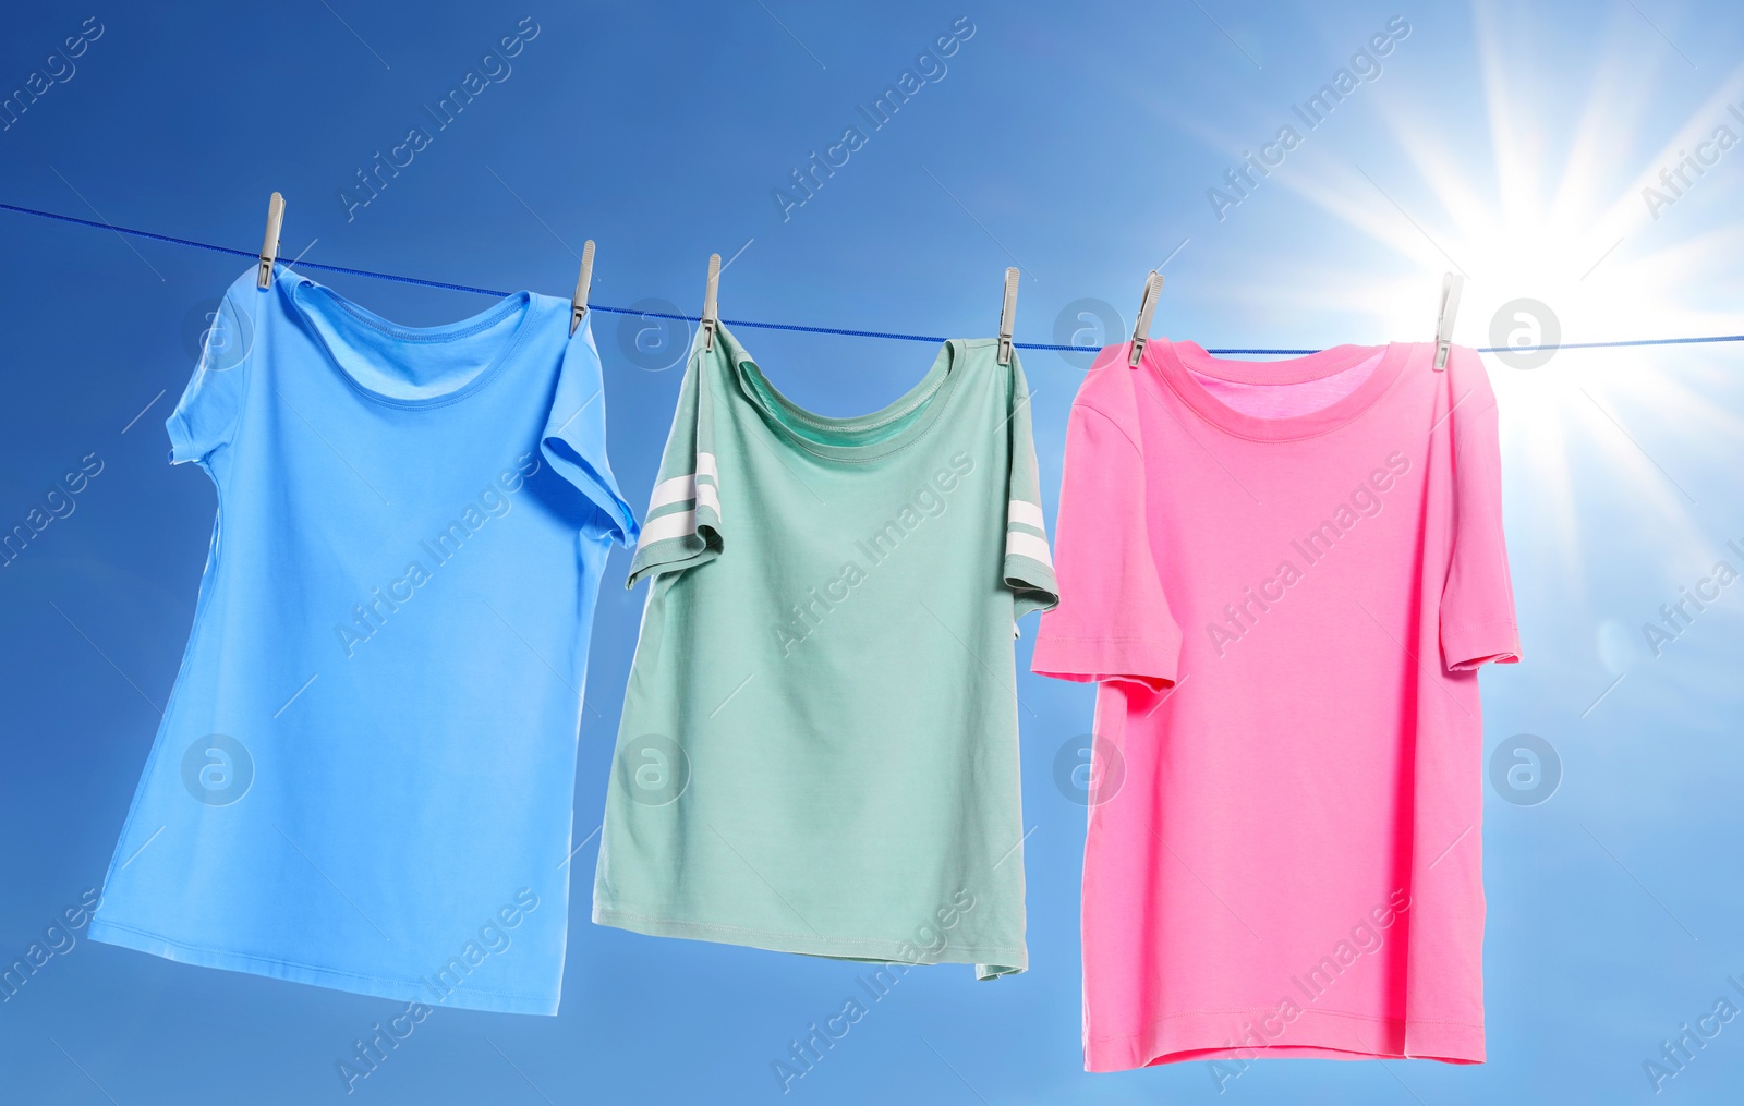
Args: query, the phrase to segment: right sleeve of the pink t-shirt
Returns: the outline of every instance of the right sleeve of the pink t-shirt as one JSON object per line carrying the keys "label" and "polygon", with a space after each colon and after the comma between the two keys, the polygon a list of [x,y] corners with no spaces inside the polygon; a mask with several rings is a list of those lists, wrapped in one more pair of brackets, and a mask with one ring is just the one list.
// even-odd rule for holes
{"label": "right sleeve of the pink t-shirt", "polygon": [[1453,413],[1453,553],[1441,590],[1441,654],[1449,672],[1521,659],[1514,584],[1502,537],[1502,447],[1496,396],[1477,354],[1449,359]]}

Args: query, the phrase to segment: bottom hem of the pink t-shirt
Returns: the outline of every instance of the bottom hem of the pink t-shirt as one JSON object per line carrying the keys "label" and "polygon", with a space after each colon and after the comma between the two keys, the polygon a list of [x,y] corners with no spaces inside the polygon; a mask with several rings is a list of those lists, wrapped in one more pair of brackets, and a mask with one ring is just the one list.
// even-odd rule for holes
{"label": "bottom hem of the pink t-shirt", "polygon": [[[1277,1027],[1277,1033],[1271,1033]],[[1277,1007],[1191,1010],[1160,1017],[1144,1033],[1085,1033],[1085,1071],[1128,1071],[1186,1061],[1418,1059],[1484,1062],[1482,1022],[1303,1010],[1284,1022]]]}

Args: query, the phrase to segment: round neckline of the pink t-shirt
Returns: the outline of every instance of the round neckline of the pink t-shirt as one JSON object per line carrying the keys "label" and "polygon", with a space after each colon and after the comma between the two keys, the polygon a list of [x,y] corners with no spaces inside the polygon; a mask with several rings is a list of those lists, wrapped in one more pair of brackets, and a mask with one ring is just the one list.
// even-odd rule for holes
{"label": "round neckline of the pink t-shirt", "polygon": [[[1418,345],[1413,342],[1388,342],[1386,345],[1334,345],[1315,354],[1287,358],[1282,361],[1240,361],[1235,358],[1214,358],[1195,342],[1170,342],[1153,338],[1146,342],[1139,359],[1139,372],[1155,384],[1163,384],[1182,403],[1191,406],[1212,426],[1254,441],[1299,441],[1315,438],[1350,424],[1369,410],[1400,377],[1400,370],[1413,361]],[[1193,363],[1193,368],[1182,359]],[[1228,380],[1231,384],[1308,384],[1346,372],[1380,354],[1374,372],[1352,389],[1346,396],[1334,399],[1320,410],[1301,415],[1264,417],[1240,412],[1210,393],[1198,377]],[[1125,358],[1120,358],[1120,365]]]}

